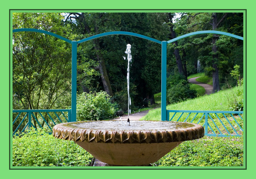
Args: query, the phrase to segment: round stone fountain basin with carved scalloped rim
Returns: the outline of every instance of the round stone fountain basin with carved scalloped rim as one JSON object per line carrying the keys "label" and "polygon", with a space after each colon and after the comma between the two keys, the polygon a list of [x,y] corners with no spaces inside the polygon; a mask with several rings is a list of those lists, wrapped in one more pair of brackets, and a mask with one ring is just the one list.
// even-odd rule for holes
{"label": "round stone fountain basin with carved scalloped rim", "polygon": [[84,121],[61,123],[56,138],[75,141],[96,159],[110,165],[148,165],[186,140],[204,136],[198,124],[170,121]]}

